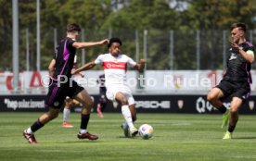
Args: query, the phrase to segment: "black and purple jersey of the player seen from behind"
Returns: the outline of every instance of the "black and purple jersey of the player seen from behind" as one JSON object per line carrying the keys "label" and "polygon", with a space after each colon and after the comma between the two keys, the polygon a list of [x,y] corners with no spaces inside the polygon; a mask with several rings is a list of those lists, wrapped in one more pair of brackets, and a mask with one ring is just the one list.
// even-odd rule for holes
{"label": "black and purple jersey of the player seen from behind", "polygon": [[75,40],[69,37],[61,40],[58,43],[55,52],[56,66],[54,72],[54,79],[57,80],[59,75],[67,76],[70,78],[71,69],[73,68],[74,56],[76,53],[76,48],[72,46]]}

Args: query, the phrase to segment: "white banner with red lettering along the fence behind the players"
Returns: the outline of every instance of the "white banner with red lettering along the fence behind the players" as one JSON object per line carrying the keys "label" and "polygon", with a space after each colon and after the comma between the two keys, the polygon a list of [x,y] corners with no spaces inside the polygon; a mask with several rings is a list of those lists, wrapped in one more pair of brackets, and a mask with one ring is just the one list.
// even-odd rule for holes
{"label": "white banner with red lettering along the fence behind the players", "polygon": [[[84,78],[75,76],[88,93],[98,93],[96,80],[101,70],[84,71]],[[223,78],[223,70],[147,70],[144,75],[136,71],[127,71],[126,83],[133,93],[207,93]],[[256,92],[256,70],[251,71],[252,92]],[[48,86],[47,71],[24,71],[19,73],[19,89],[16,93],[45,94]],[[13,74],[11,72],[0,73],[0,93],[14,93]]]}

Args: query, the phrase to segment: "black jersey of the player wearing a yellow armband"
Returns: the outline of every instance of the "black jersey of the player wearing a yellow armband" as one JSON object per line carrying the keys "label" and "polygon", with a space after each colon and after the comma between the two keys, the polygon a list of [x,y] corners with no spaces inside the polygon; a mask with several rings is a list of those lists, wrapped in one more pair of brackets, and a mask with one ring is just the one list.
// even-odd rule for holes
{"label": "black jersey of the player wearing a yellow armband", "polygon": [[[240,43],[238,46],[242,47],[245,52],[249,50],[254,51],[253,45],[249,42]],[[229,56],[227,57],[226,64],[227,70],[224,75],[224,80],[251,82],[250,62],[247,62],[237,50],[234,50],[233,48],[229,49]]]}

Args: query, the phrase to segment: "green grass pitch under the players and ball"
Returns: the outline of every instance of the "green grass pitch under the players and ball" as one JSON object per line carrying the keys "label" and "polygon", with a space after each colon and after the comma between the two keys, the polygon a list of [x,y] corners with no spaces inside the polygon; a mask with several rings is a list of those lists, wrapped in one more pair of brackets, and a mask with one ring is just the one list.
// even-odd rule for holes
{"label": "green grass pitch under the players and ball", "polygon": [[62,114],[35,133],[38,144],[29,144],[22,130],[42,113],[0,113],[1,161],[165,161],[256,160],[256,118],[241,115],[234,139],[222,140],[221,115],[138,114],[135,126],[154,128],[149,140],[124,138],[122,114],[91,115],[88,130],[97,141],[79,140],[80,114],[71,113],[74,128],[61,128]]}

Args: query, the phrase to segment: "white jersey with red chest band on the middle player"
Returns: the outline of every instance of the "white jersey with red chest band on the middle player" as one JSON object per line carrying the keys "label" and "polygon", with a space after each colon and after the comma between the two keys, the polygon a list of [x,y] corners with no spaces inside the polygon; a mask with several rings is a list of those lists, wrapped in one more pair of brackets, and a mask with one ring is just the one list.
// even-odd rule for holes
{"label": "white jersey with red chest band on the middle player", "polygon": [[127,67],[134,67],[136,62],[126,55],[115,57],[111,54],[97,56],[96,64],[102,64],[105,73],[106,87],[126,85]]}

